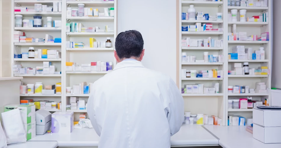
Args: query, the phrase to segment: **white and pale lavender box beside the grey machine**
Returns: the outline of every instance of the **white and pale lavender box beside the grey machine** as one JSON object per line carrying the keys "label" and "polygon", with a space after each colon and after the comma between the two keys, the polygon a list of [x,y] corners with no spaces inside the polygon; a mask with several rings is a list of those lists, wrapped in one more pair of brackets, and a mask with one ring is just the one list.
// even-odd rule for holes
{"label": "white and pale lavender box beside the grey machine", "polygon": [[52,114],[52,133],[71,133],[74,128],[73,112],[54,112]]}

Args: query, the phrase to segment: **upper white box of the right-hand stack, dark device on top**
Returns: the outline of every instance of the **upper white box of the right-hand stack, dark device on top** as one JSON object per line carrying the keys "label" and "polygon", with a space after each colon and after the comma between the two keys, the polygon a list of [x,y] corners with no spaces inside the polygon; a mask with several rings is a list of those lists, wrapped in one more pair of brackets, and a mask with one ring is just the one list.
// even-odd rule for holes
{"label": "upper white box of the right-hand stack, dark device on top", "polygon": [[253,123],[264,127],[281,127],[281,110],[261,110],[254,108]]}

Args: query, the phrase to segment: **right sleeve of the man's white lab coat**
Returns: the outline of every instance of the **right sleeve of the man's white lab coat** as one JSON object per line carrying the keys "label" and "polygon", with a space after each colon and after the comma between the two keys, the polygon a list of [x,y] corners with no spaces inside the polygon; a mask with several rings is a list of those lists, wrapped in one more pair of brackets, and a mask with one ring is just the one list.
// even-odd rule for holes
{"label": "right sleeve of the man's white lab coat", "polygon": [[169,112],[167,115],[171,136],[180,130],[184,120],[184,103],[183,96],[181,95],[179,89],[175,82],[170,78],[169,84]]}

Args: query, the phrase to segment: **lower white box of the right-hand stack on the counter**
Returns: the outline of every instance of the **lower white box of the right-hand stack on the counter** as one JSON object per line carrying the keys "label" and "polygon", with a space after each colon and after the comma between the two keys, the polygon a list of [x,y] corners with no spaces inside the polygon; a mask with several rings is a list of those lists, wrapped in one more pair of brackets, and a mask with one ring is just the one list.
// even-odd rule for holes
{"label": "lower white box of the right-hand stack on the counter", "polygon": [[281,138],[277,136],[280,133],[281,127],[263,127],[253,124],[253,138],[263,143],[281,143]]}

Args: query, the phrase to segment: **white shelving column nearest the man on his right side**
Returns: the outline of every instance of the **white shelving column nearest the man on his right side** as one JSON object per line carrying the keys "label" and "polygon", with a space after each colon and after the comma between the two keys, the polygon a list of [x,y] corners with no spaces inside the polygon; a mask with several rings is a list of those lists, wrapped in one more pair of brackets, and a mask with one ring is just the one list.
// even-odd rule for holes
{"label": "white shelving column nearest the man on his right side", "polygon": [[[225,70],[225,61],[216,63],[197,63],[197,62],[182,62],[181,53],[186,52],[188,56],[196,56],[196,59],[204,59],[204,52],[209,54],[224,55],[225,44],[222,47],[182,47],[181,39],[190,37],[190,39],[223,39],[224,32],[188,32],[182,31],[182,25],[194,25],[196,22],[212,23],[213,28],[224,28],[224,20],[182,20],[181,13],[187,12],[189,5],[193,4],[197,11],[209,13],[216,16],[218,12],[223,12],[223,1],[185,1],[179,2],[179,86],[180,89],[185,84],[195,85],[196,83],[204,84],[204,87],[211,87],[212,83],[219,83],[218,94],[182,94],[184,98],[185,111],[190,111],[191,114],[208,114],[216,115],[225,120],[225,78],[182,78],[181,70]],[[225,31],[225,30],[224,30]],[[223,122],[225,124],[225,122]]]}

